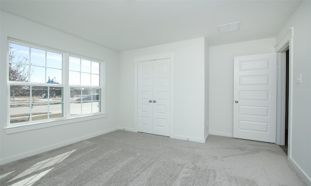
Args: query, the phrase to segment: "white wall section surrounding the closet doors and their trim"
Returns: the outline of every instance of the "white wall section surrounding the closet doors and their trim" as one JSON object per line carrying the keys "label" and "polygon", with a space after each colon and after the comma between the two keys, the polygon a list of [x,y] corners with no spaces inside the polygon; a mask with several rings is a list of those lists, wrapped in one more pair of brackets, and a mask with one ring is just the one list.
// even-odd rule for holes
{"label": "white wall section surrounding the closet doors and their trim", "polygon": [[174,120],[172,138],[204,142],[205,115],[205,39],[146,47],[121,52],[120,57],[120,128],[135,131],[134,57],[175,51]]}

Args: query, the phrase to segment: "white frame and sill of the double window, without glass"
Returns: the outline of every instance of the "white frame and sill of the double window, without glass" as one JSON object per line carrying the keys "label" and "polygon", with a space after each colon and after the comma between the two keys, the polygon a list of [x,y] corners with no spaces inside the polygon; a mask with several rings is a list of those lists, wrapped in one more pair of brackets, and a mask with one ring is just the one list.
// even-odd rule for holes
{"label": "white frame and sill of the double window, without glass", "polygon": [[[62,108],[62,114],[63,117],[60,118],[51,118],[51,119],[44,119],[44,120],[35,120],[35,121],[30,121],[30,122],[20,122],[20,123],[10,123],[10,98],[11,98],[11,93],[10,93],[10,86],[11,85],[27,85],[27,86],[46,86],[46,87],[51,87],[51,84],[49,83],[36,83],[36,82],[25,82],[25,81],[9,81],[9,44],[14,43],[17,45],[22,45],[26,47],[32,47],[36,49],[41,49],[49,52],[55,52],[58,54],[63,55],[63,61],[62,61],[62,84],[53,84],[52,87],[59,87],[63,88],[63,108]],[[90,60],[93,62],[99,62],[100,63],[100,84],[99,86],[96,86],[96,88],[101,89],[101,111],[96,112],[96,113],[91,113],[91,114],[80,114],[80,115],[73,115],[70,116],[70,88],[71,87],[79,87],[76,85],[69,86],[69,56],[71,57],[77,57],[80,59],[84,60]],[[8,38],[7,40],[7,55],[6,55],[6,85],[7,85],[7,110],[8,110],[8,115],[7,115],[7,123],[6,127],[4,128],[4,131],[7,134],[13,134],[17,132],[23,132],[23,131],[29,131],[29,130],[35,130],[35,129],[40,129],[40,128],[46,128],[46,127],[51,127],[51,126],[57,126],[57,125],[63,125],[63,124],[71,124],[71,123],[77,123],[77,122],[83,122],[83,121],[88,121],[88,120],[94,120],[94,119],[99,119],[99,118],[104,118],[106,117],[105,113],[105,62],[102,60],[97,60],[93,59],[90,57],[85,57],[82,55],[76,55],[71,52],[67,51],[61,51],[59,49],[53,49],[51,47],[43,47],[40,45],[34,45],[29,42],[24,42],[24,41],[19,41],[16,39],[11,39]],[[46,68],[46,67],[45,67]],[[83,86],[83,87],[89,87],[89,88],[94,88],[94,86]]]}

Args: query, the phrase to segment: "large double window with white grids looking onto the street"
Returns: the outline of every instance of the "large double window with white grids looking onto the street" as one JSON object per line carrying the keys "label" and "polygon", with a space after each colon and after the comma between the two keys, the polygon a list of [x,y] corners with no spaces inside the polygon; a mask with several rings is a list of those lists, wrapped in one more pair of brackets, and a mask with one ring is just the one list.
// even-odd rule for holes
{"label": "large double window with white grids looking onto the street", "polygon": [[9,41],[9,125],[102,112],[102,62],[69,56]]}

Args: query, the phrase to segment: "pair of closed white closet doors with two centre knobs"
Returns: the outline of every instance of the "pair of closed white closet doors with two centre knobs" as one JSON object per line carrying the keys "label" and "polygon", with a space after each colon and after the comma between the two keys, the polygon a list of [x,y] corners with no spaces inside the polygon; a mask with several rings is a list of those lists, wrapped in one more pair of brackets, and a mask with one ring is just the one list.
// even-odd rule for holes
{"label": "pair of closed white closet doors with two centre knobs", "polygon": [[138,62],[138,131],[170,135],[170,59]]}

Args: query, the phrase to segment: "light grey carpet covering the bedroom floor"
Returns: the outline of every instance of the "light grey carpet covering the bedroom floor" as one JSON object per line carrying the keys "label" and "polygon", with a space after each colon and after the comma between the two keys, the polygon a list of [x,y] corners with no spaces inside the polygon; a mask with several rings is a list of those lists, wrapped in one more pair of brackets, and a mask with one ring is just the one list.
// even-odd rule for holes
{"label": "light grey carpet covering the bedroom floor", "polygon": [[306,186],[272,143],[114,131],[0,166],[1,186]]}

